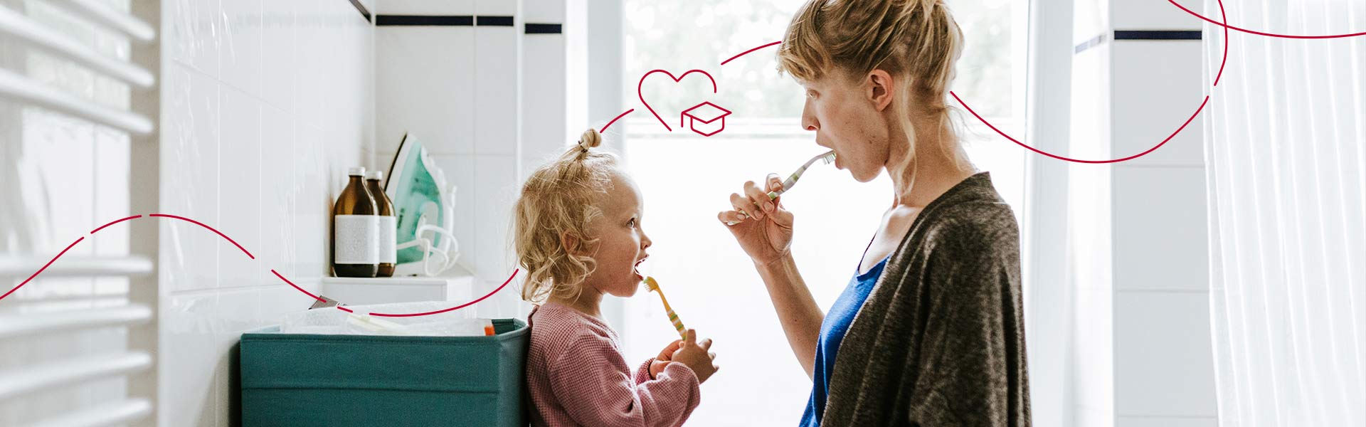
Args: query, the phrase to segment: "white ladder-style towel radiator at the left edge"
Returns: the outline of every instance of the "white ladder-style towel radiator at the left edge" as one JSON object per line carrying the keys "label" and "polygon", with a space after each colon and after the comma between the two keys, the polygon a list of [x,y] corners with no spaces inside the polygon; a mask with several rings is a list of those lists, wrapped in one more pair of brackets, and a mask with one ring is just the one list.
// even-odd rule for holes
{"label": "white ladder-style towel radiator at the left edge", "polygon": [[[160,1],[0,0],[0,426],[156,424],[157,223],[86,226],[157,212],[160,15]],[[63,127],[90,131],[48,131]],[[33,148],[81,138],[90,153],[71,167],[102,172],[42,179],[68,164]],[[109,205],[122,215],[102,218]]]}

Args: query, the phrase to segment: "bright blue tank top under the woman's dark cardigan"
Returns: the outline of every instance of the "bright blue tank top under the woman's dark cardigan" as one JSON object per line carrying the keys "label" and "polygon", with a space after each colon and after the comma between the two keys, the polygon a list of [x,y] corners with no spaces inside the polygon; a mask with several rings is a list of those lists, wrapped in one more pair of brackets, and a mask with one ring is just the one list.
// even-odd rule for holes
{"label": "bright blue tank top under the woman's dark cardigan", "polygon": [[811,398],[806,402],[806,412],[802,413],[800,426],[821,426],[821,415],[825,413],[825,397],[831,387],[831,371],[835,368],[835,354],[840,350],[844,333],[854,323],[854,315],[858,315],[858,309],[863,307],[867,294],[873,292],[873,285],[877,285],[877,278],[882,275],[882,267],[887,266],[888,259],[891,257],[882,259],[867,272],[858,274],[855,270],[850,285],[835,300],[831,312],[825,313],[825,320],[821,320],[821,335],[816,341],[816,363],[811,371]]}

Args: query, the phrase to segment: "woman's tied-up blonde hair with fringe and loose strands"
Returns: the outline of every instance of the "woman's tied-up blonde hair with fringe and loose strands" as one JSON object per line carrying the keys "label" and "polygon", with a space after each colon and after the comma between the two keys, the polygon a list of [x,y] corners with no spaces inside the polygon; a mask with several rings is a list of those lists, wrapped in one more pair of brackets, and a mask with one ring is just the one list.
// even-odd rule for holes
{"label": "woman's tied-up blonde hair with fringe and loose strands", "polygon": [[910,141],[902,170],[911,178],[912,114],[933,118],[940,149],[958,167],[971,168],[945,97],[962,51],[963,31],[944,0],[809,0],[787,26],[777,60],[779,73],[799,81],[817,81],[826,73],[859,81],[873,70],[895,77],[892,108]]}

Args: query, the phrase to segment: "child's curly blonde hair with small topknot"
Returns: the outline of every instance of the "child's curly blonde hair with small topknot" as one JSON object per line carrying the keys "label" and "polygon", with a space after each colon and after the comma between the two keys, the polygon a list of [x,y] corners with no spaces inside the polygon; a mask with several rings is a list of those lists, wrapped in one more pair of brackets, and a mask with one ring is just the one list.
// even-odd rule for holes
{"label": "child's curly blonde hair with small topknot", "polygon": [[[587,233],[589,223],[602,215],[597,204],[619,172],[616,155],[593,151],[601,144],[597,130],[583,131],[578,145],[538,167],[522,185],[514,231],[518,264],[527,271],[522,300],[541,304],[552,294],[576,298],[578,285],[593,272],[593,257],[570,250],[597,244]],[[566,248],[561,234],[574,235],[575,248]]]}

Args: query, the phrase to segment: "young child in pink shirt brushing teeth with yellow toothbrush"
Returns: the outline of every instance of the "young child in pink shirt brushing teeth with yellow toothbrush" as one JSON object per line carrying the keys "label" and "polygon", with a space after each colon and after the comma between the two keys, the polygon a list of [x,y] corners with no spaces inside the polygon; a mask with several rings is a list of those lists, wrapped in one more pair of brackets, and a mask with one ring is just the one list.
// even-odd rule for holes
{"label": "young child in pink shirt brushing teeth with yellow toothbrush", "polygon": [[589,129],[559,160],[535,170],[516,203],[522,298],[531,311],[526,382],[533,426],[679,426],[717,367],[710,339],[675,341],[631,370],[602,322],[604,294],[630,297],[649,255],[641,192],[616,156],[594,151]]}

